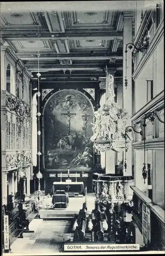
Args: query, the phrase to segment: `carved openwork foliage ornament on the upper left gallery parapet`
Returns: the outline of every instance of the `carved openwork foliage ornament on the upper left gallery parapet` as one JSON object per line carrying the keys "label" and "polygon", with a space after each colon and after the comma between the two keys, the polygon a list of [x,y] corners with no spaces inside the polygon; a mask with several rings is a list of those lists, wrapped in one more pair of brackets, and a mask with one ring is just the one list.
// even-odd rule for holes
{"label": "carved openwork foliage ornament on the upper left gallery parapet", "polygon": [[6,95],[6,106],[10,111],[14,111],[22,122],[25,118],[31,118],[30,106],[18,97],[13,97],[11,95]]}

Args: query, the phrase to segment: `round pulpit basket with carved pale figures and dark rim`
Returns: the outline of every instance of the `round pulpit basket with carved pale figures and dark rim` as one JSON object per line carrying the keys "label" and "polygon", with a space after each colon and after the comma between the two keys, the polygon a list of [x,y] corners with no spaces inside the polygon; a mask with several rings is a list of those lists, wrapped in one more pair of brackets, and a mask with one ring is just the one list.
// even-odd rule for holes
{"label": "round pulpit basket with carved pale figures and dark rim", "polygon": [[112,176],[93,174],[93,190],[98,202],[116,202],[132,204],[133,176]]}

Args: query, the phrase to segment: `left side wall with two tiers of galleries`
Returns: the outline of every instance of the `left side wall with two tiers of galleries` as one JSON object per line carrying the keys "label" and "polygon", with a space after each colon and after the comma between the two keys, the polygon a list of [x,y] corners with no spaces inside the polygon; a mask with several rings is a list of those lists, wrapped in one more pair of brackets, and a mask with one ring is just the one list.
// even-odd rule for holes
{"label": "left side wall with two tiers of galleries", "polygon": [[[29,78],[31,76],[21,61],[17,61],[17,57],[9,46],[1,47],[1,122],[2,122],[2,184],[3,184],[3,204],[7,204],[9,194],[16,193],[18,187],[18,169],[16,168],[19,159],[22,160],[24,154],[31,154],[31,119],[26,116],[25,109],[28,111],[31,103],[29,96]],[[19,62],[19,63],[18,63]],[[16,64],[17,63],[17,64]],[[10,71],[7,73],[7,67]],[[22,71],[22,78],[19,82],[19,98],[16,97],[16,80],[18,71]],[[8,69],[9,70],[9,69]],[[23,82],[24,81],[24,82]],[[7,88],[7,82],[10,83]],[[15,100],[17,104],[15,110],[10,100]],[[22,100],[22,101],[20,101]],[[22,103],[19,108],[19,103]],[[20,118],[24,120],[20,123]],[[18,136],[18,127],[21,127],[21,136]],[[29,176],[27,179],[30,179]]]}

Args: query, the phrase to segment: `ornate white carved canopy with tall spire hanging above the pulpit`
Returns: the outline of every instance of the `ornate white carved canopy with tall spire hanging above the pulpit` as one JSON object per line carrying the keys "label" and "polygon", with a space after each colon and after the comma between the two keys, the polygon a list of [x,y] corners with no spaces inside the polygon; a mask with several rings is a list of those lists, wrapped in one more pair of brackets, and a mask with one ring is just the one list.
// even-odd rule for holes
{"label": "ornate white carved canopy with tall spire hanging above the pulpit", "polygon": [[106,72],[106,103],[95,112],[92,124],[91,141],[96,150],[124,152],[128,146],[125,141],[125,127],[128,113],[114,102],[114,78]]}

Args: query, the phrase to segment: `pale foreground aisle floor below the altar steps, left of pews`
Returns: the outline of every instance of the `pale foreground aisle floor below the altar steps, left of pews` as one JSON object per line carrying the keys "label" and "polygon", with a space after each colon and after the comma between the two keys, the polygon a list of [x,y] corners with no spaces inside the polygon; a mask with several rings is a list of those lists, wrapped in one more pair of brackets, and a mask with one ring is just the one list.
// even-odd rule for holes
{"label": "pale foreground aisle floor below the altar steps, left of pews", "polygon": [[11,245],[11,250],[20,255],[59,252],[63,238],[69,239],[69,227],[69,221],[34,219],[29,225],[30,230],[34,230],[34,233],[23,233],[23,238],[17,238]]}

